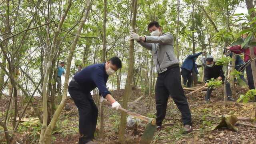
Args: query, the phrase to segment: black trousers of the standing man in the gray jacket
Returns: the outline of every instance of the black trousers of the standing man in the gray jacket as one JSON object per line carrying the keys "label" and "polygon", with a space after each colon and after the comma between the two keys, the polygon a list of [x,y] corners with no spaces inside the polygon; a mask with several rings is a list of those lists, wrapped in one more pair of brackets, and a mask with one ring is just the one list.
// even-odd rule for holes
{"label": "black trousers of the standing man in the gray jacket", "polygon": [[166,115],[169,95],[182,114],[183,124],[192,124],[187,98],[180,80],[180,68],[174,67],[158,74],[156,80],[156,125],[161,126]]}

